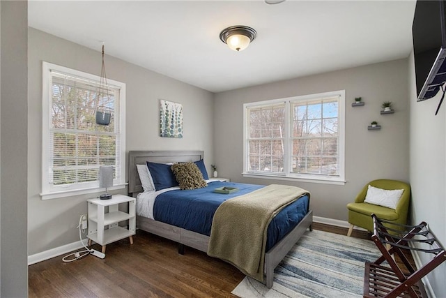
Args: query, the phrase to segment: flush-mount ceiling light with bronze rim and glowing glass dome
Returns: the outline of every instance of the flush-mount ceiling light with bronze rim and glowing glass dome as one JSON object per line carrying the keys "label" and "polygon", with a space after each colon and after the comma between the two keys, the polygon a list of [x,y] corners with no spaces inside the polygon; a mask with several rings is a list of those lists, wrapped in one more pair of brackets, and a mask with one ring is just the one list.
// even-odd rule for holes
{"label": "flush-mount ceiling light with bronze rim and glowing glass dome", "polygon": [[237,52],[245,50],[256,36],[257,32],[247,26],[232,26],[220,32],[220,40]]}

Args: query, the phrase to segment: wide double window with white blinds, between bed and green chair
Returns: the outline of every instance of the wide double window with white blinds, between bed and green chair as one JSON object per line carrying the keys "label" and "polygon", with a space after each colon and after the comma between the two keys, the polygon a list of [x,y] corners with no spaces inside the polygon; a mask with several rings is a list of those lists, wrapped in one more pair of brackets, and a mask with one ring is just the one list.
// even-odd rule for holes
{"label": "wide double window with white blinds, between bed and green chair", "polygon": [[244,175],[344,183],[345,91],[244,105]]}

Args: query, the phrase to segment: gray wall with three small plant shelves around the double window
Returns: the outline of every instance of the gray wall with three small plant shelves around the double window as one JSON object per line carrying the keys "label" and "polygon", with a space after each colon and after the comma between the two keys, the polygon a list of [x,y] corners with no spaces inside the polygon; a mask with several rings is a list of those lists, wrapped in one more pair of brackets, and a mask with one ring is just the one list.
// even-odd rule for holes
{"label": "gray wall with three small plant shelves around the double window", "polygon": [[[214,155],[219,176],[252,184],[300,186],[311,192],[315,216],[347,221],[346,204],[368,181],[408,181],[407,69],[407,59],[400,59],[216,94]],[[344,186],[242,177],[243,103],[341,89],[346,90]],[[358,96],[365,105],[352,107]],[[394,103],[394,114],[380,114],[384,100]],[[381,130],[367,131],[374,120],[382,126]],[[228,135],[231,142],[227,141]]]}

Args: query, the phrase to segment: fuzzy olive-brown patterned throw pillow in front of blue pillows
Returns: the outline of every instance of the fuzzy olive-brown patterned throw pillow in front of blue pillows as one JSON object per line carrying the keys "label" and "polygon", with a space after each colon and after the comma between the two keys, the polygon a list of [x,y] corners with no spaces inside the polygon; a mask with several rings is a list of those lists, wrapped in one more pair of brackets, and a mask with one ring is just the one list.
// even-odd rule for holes
{"label": "fuzzy olive-brown patterned throw pillow in front of blue pillows", "polygon": [[171,170],[182,190],[207,186],[203,174],[195,163],[176,163],[171,166]]}

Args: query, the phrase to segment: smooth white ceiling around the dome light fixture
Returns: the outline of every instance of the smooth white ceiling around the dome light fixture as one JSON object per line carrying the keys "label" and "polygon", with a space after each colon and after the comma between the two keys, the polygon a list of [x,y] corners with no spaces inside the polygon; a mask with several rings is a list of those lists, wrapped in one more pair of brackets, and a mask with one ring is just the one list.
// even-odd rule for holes
{"label": "smooth white ceiling around the dome light fixture", "polygon": [[[29,26],[213,92],[408,57],[415,0],[29,1]],[[257,37],[229,50],[222,29]],[[107,61],[106,61],[107,66]],[[111,77],[113,78],[113,77]]]}

